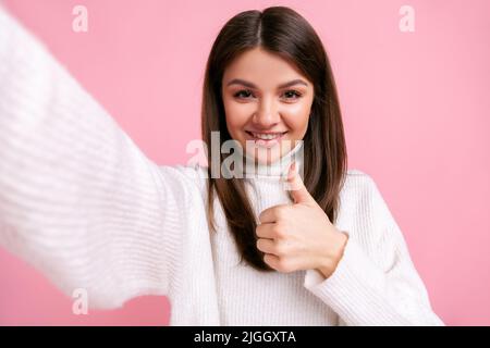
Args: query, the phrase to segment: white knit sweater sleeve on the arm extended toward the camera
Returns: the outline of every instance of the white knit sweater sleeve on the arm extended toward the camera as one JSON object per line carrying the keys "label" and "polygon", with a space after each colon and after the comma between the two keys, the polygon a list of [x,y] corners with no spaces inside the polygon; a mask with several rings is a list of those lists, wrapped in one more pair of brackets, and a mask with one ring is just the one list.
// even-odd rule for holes
{"label": "white knit sweater sleeve on the arm extended toward the camera", "polygon": [[0,7],[1,246],[91,308],[166,295],[193,185],[149,161]]}

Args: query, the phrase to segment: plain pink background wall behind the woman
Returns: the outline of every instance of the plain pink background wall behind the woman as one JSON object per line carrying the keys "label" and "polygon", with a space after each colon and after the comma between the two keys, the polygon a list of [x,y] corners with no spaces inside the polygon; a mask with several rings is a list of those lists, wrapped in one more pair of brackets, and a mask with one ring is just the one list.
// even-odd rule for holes
{"label": "plain pink background wall behind the woman", "polygon": [[[212,40],[232,15],[290,5],[317,29],[336,76],[350,167],[370,174],[446,324],[490,325],[490,2],[7,0],[149,158],[185,163],[199,138]],[[88,33],[72,9],[88,9]],[[399,9],[415,9],[401,33]],[[0,324],[162,325],[169,302],[71,312],[29,265],[0,250]]]}

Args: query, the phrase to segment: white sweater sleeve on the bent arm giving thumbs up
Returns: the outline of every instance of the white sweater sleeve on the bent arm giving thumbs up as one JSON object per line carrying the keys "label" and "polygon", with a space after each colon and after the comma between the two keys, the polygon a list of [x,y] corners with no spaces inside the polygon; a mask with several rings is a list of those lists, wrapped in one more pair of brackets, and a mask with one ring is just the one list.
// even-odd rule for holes
{"label": "white sweater sleeve on the bent arm giving thumbs up", "polygon": [[305,287],[342,325],[443,325],[376,183],[364,174],[356,185],[364,231],[345,231],[350,238],[334,273],[324,278],[308,270]]}

